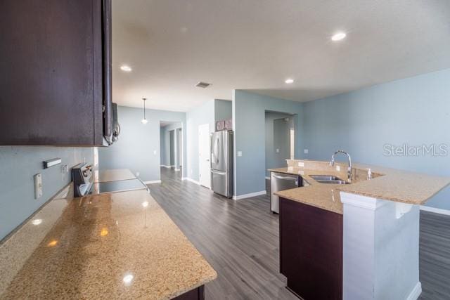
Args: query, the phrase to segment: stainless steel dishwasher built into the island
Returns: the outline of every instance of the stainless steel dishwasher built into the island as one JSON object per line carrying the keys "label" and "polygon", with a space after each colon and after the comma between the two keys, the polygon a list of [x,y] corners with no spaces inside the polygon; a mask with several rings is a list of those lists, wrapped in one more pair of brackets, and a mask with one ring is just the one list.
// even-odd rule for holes
{"label": "stainless steel dishwasher built into the island", "polygon": [[270,178],[270,210],[276,214],[280,213],[280,198],[274,193],[281,190],[290,190],[302,186],[302,177],[294,174],[271,172]]}

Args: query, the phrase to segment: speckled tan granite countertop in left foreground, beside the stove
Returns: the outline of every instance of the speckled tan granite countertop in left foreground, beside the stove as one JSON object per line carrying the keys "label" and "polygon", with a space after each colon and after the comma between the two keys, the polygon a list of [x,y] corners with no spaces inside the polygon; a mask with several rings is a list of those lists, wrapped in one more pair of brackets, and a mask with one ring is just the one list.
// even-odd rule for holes
{"label": "speckled tan granite countertop in left foreground, beside the stove", "polygon": [[69,195],[0,244],[0,299],[171,299],[217,278],[146,190]]}

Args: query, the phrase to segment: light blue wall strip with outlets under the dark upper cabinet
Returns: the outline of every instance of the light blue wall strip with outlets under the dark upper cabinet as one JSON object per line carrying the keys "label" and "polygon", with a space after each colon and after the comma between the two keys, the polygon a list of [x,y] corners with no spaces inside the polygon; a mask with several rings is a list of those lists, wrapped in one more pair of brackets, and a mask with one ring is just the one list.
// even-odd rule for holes
{"label": "light blue wall strip with outlets under the dark upper cabinet", "polygon": [[[62,163],[49,169],[42,162],[59,157]],[[93,148],[0,147],[0,240],[31,216],[58,190],[70,183],[70,171],[62,174],[61,167],[70,168],[80,162],[94,162]],[[43,195],[34,199],[34,174],[42,176]]]}

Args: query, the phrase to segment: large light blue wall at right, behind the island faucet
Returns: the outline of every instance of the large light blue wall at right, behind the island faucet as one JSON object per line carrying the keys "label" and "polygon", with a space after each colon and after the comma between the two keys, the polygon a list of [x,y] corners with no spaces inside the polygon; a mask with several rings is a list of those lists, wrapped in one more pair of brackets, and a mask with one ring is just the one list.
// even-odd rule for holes
{"label": "large light blue wall at right, behind the island faucet", "polygon": [[[385,144],[449,145],[449,128],[450,70],[304,103],[304,146],[311,159],[330,159],[343,149],[354,162],[450,176],[449,155],[383,155]],[[428,205],[450,209],[450,189]]]}

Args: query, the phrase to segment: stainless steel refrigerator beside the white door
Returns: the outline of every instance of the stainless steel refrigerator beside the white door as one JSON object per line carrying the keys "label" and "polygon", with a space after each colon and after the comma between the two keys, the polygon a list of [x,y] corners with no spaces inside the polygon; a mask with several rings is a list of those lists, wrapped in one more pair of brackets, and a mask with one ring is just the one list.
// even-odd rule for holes
{"label": "stainless steel refrigerator beside the white door", "polygon": [[214,193],[233,196],[233,131],[211,134],[211,189]]}

